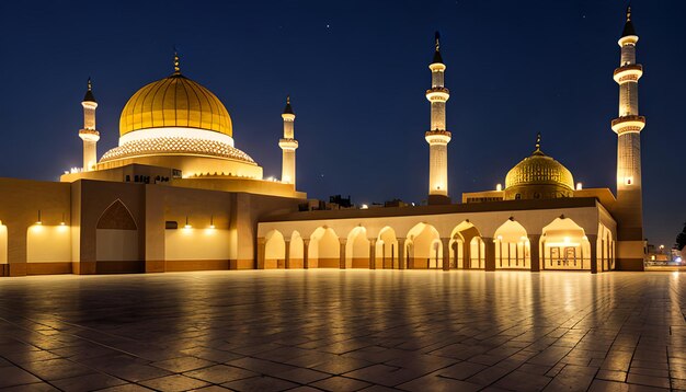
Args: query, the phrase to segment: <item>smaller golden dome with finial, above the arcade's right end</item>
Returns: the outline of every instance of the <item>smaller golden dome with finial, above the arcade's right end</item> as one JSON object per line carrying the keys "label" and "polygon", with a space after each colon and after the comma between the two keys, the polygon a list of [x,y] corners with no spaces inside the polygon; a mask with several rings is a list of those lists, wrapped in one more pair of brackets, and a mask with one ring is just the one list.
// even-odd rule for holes
{"label": "smaller golden dome with finial, above the arcade's right end", "polygon": [[536,140],[536,151],[512,168],[505,177],[505,191],[527,185],[551,185],[570,192],[574,189],[572,172],[540,150],[540,134]]}

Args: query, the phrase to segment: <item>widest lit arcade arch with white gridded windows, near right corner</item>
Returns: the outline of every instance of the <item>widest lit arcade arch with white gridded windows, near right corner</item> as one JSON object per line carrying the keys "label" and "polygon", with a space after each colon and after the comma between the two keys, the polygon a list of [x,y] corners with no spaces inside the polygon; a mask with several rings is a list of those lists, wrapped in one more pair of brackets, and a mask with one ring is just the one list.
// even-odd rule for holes
{"label": "widest lit arcade arch with white gridded windows, near right corner", "polygon": [[591,269],[591,244],[571,218],[556,218],[542,229],[540,241],[544,269]]}

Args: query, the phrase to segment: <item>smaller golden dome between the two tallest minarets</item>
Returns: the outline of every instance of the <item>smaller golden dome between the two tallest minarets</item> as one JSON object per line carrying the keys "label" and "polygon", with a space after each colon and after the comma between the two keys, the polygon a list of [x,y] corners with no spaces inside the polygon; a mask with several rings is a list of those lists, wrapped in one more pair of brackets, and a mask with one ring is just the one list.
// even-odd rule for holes
{"label": "smaller golden dome between the two tallest minarets", "polygon": [[572,172],[540,150],[540,135],[534,153],[505,177],[505,199],[571,197],[573,191]]}

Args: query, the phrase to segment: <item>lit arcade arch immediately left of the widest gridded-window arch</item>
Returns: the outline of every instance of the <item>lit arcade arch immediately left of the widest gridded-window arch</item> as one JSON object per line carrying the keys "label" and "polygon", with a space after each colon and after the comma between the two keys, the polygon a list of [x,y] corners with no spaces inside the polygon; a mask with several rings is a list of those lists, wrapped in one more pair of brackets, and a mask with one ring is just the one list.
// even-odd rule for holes
{"label": "lit arcade arch immediately left of the widest gridded-window arch", "polygon": [[510,219],[494,234],[496,269],[530,269],[530,243],[519,222]]}

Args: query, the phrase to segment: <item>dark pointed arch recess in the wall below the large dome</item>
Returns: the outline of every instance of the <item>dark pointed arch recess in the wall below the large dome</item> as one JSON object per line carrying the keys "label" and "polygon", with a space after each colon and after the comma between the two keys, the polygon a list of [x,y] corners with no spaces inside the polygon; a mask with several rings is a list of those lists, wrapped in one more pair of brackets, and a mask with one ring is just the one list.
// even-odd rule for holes
{"label": "dark pointed arch recess in the wall below the large dome", "polygon": [[98,274],[144,272],[138,253],[138,226],[119,199],[112,203],[98,220],[95,257]]}

